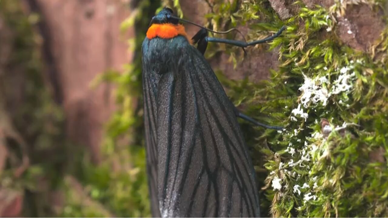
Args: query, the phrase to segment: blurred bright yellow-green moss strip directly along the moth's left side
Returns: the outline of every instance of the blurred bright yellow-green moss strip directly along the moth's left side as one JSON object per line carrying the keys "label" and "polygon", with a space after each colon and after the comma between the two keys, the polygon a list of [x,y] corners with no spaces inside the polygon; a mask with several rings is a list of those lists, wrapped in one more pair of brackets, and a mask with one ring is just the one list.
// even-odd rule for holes
{"label": "blurred bright yellow-green moss strip directly along the moth's left side", "polygon": [[[149,26],[149,17],[154,16],[159,7],[159,1],[139,1],[132,15],[121,25],[122,31],[130,27],[136,29],[135,38],[128,40],[135,54],[132,64],[124,65],[123,72],[108,70],[94,81],[94,86],[101,82],[116,85],[117,110],[106,126],[106,137],[102,146],[105,161],[98,167],[88,161],[81,163],[81,171],[77,173],[77,178],[85,187],[87,196],[99,202],[114,216],[151,216],[143,146],[142,104],[140,104],[141,45]],[[71,192],[72,189],[69,189],[68,193]],[[68,202],[67,211],[65,208],[62,216],[109,216],[106,213],[89,214],[88,207],[84,210],[84,202],[72,203],[71,195],[68,195]]]}

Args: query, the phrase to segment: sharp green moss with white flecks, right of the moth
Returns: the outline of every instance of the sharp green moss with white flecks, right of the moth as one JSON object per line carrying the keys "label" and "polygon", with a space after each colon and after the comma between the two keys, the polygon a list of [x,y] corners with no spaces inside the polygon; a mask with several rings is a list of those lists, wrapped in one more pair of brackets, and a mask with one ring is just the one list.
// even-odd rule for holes
{"label": "sharp green moss with white flecks, right of the moth", "polygon": [[[380,7],[384,2],[360,3]],[[250,24],[247,40],[287,26],[281,37],[269,43],[270,48],[279,47],[281,61],[279,71],[272,71],[269,80],[256,84],[231,81],[217,72],[230,99],[243,104],[247,114],[264,123],[286,126],[285,131],[277,132],[253,130],[242,123],[263,187],[263,215],[388,216],[387,29],[372,46],[372,54],[356,52],[343,45],[334,31],[334,14],[343,13],[346,3],[337,3],[330,10],[298,4],[299,13],[285,22],[264,0],[216,2],[207,16],[209,26],[218,30]],[[257,24],[258,19],[262,23]],[[326,29],[333,31],[323,38]],[[241,52],[229,45],[208,49],[208,58],[223,51],[235,63],[242,59]],[[258,48],[248,52],[251,49]],[[342,87],[344,77],[347,86]],[[306,118],[293,113],[299,105]],[[323,118],[333,129],[327,136],[320,126]],[[349,125],[335,130],[343,123]],[[384,162],[370,157],[376,149],[382,149],[377,151]],[[274,189],[279,188],[276,182],[280,190]]]}

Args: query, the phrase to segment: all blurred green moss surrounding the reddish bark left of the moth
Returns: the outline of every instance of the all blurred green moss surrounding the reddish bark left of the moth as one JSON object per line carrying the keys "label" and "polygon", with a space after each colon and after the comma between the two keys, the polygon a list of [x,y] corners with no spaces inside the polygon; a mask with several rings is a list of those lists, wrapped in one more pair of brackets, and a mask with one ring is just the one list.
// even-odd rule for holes
{"label": "all blurred green moss surrounding the reddish bark left of the moth", "polygon": [[[15,92],[13,83],[8,81],[20,78],[24,85],[21,87],[24,101],[17,110],[10,111],[12,117],[6,126],[10,133],[6,135],[7,149],[12,157],[7,161],[7,168],[0,172],[0,183],[2,189],[24,194],[24,216],[150,216],[145,151],[141,146],[142,105],[136,106],[134,99],[141,97],[139,54],[145,30],[140,29],[148,27],[148,17],[159,7],[158,2],[155,4],[139,1],[136,17],[123,22],[123,31],[128,25],[139,29],[132,41],[136,57],[133,64],[124,66],[122,74],[111,70],[99,78],[117,85],[118,111],[106,127],[102,146],[104,161],[94,166],[84,147],[69,144],[63,135],[64,114],[52,100],[50,87],[43,80],[40,36],[34,31],[39,16],[26,16],[21,2],[0,3],[0,17],[15,36],[11,41],[8,71],[5,76],[0,75],[5,78],[1,80],[0,110],[6,106],[6,97]],[[3,130],[3,111],[0,114]],[[18,177],[14,172],[21,165],[23,155],[29,157],[30,165]],[[63,200],[63,205],[53,204],[53,194],[55,199]]]}

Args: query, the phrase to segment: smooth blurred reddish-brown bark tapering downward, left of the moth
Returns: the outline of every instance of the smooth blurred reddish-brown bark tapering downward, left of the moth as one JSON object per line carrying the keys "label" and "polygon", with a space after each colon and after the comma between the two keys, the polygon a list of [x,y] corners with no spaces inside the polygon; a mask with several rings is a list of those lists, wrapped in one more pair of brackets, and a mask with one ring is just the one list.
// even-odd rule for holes
{"label": "smooth blurred reddish-brown bark tapering downward, left of the moth", "polygon": [[[132,60],[120,24],[130,14],[121,0],[30,0],[42,15],[50,81],[64,106],[71,140],[91,149],[98,163],[106,123],[114,109],[112,87],[90,82],[106,69]],[[130,30],[133,36],[133,29]],[[50,57],[51,56],[51,57]],[[51,66],[51,68],[50,68]]]}

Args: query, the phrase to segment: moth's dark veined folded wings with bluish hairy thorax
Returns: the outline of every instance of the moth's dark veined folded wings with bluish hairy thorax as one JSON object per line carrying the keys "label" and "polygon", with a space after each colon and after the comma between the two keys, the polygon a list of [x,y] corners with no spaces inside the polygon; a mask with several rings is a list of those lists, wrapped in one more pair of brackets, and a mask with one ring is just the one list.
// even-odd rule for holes
{"label": "moth's dark veined folded wings with bluish hairy thorax", "polygon": [[234,106],[208,62],[183,36],[145,38],[142,48],[153,215],[260,216]]}

